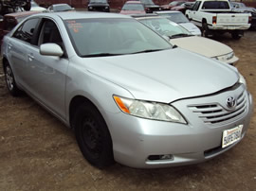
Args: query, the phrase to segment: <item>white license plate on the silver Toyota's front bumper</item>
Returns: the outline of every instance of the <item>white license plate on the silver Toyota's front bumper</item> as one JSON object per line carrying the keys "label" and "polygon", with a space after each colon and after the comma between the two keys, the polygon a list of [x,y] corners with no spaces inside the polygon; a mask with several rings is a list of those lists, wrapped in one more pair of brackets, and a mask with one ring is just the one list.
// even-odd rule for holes
{"label": "white license plate on the silver Toyota's front bumper", "polygon": [[237,142],[241,139],[243,125],[239,125],[230,130],[224,130],[222,134],[222,148],[226,148],[229,145]]}

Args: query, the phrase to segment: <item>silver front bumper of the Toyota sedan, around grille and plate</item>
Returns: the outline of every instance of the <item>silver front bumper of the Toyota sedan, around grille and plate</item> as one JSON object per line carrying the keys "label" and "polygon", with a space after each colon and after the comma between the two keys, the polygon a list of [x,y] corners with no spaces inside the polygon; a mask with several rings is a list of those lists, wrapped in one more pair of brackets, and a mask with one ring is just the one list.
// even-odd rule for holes
{"label": "silver front bumper of the Toyota sedan, around grille and plate", "polygon": [[[238,142],[228,148],[221,148],[222,133],[223,130],[243,124],[241,140],[244,138],[252,113],[252,97],[249,94],[245,93],[245,113],[221,123],[206,124],[188,108],[188,105],[199,100],[215,101],[223,96],[227,98],[229,93],[173,103],[186,117],[187,125],[148,120],[125,113],[108,113],[106,122],[113,140],[115,160],[137,168],[190,165],[209,160],[232,148]],[[149,156],[167,154],[172,159],[149,160]]]}

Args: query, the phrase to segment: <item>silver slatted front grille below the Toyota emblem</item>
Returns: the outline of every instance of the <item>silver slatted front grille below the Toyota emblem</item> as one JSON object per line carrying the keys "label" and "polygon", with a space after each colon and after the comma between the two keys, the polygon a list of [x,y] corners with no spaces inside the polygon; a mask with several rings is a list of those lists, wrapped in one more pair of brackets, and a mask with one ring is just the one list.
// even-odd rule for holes
{"label": "silver slatted front grille below the Toyota emblem", "polygon": [[220,104],[203,104],[189,106],[192,113],[197,113],[204,123],[217,124],[229,121],[233,118],[238,118],[247,111],[247,97],[246,93],[242,93],[237,97],[237,105],[233,111],[226,110]]}

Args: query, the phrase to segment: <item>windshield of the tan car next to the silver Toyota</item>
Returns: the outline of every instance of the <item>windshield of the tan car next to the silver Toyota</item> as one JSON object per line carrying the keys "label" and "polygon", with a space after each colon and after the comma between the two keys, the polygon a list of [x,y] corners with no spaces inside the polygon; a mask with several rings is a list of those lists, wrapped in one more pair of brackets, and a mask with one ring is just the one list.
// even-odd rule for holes
{"label": "windshield of the tan car next to the silver Toyota", "polygon": [[165,18],[146,18],[140,19],[139,21],[162,36],[168,36],[170,38],[192,36],[188,30]]}

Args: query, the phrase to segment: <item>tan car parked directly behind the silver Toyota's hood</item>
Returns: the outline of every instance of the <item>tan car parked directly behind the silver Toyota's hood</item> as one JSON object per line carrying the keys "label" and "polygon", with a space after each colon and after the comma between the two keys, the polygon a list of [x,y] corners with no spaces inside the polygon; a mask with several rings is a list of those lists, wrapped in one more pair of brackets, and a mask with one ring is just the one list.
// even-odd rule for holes
{"label": "tan car parked directly behind the silver Toyota's hood", "polygon": [[136,19],[144,25],[151,27],[158,34],[168,37],[170,43],[178,47],[231,65],[234,65],[239,60],[228,45],[204,37],[194,36],[182,26],[166,18],[152,15],[139,16]]}

